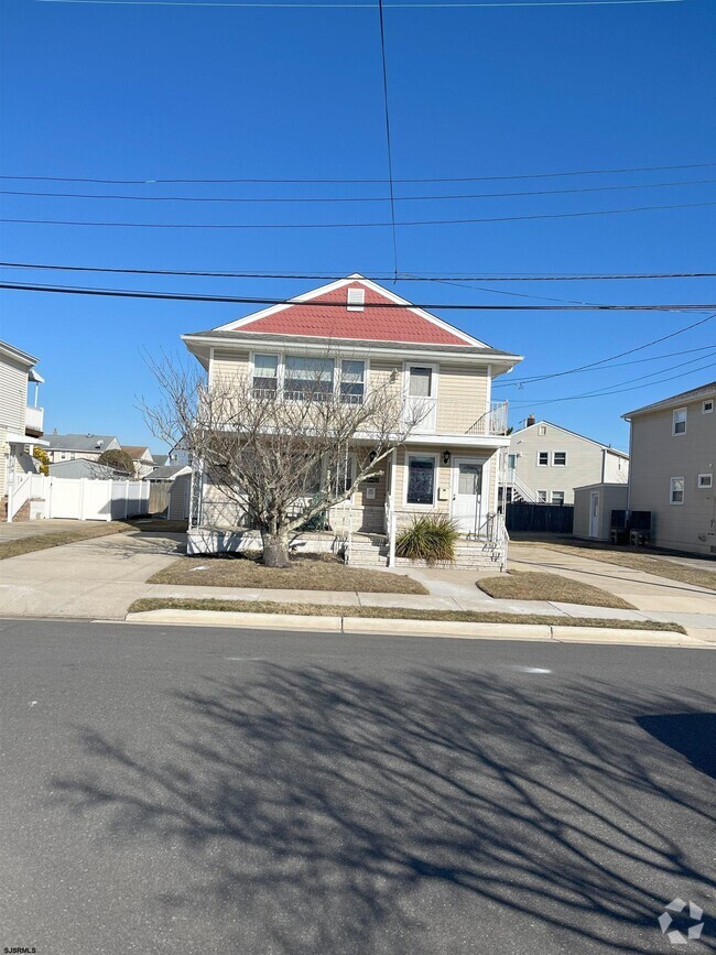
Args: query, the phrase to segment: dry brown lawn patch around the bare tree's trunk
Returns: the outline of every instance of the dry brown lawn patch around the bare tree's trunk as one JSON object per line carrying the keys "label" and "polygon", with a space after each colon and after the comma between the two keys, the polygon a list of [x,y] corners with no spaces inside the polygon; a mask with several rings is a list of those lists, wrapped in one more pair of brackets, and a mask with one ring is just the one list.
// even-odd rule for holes
{"label": "dry brown lawn patch around the bare tree's trunk", "polygon": [[[203,567],[205,569],[198,569]],[[364,594],[427,594],[411,577],[347,567],[329,555],[293,557],[291,567],[264,567],[252,557],[180,557],[149,584],[181,587],[258,587],[271,590],[359,590]]]}

